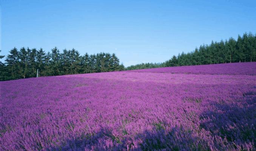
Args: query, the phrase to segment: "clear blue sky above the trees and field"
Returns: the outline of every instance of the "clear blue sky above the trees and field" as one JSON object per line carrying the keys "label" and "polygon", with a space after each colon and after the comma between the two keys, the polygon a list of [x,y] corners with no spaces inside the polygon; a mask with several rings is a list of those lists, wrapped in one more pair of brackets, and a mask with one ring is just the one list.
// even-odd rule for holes
{"label": "clear blue sky above the trees and field", "polygon": [[256,33],[255,0],[1,0],[0,6],[1,55],[14,46],[57,46],[116,53],[130,66]]}

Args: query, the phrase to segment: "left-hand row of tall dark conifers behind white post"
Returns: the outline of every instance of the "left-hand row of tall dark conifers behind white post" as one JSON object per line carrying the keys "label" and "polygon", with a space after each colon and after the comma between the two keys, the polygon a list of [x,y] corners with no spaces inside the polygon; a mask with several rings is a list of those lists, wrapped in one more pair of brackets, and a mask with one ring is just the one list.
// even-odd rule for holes
{"label": "left-hand row of tall dark conifers behind white post", "polygon": [[[0,59],[3,57],[0,56]],[[37,69],[39,76],[53,76],[121,71],[125,68],[115,54],[100,52],[81,56],[76,49],[60,52],[55,47],[46,53],[42,48],[22,47],[18,51],[14,47],[6,56],[5,63],[0,62],[0,80],[36,77]]]}

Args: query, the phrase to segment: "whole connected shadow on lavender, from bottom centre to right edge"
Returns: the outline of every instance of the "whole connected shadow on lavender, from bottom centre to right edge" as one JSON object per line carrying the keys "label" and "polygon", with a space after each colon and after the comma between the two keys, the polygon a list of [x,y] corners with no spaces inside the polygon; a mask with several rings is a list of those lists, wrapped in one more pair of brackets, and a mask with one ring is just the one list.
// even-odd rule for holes
{"label": "whole connected shadow on lavender, from bottom centre to right edge", "polygon": [[156,123],[135,136],[115,136],[113,129],[102,127],[97,133],[82,134],[52,145],[45,151],[211,151],[254,150],[256,131],[256,97],[244,94],[244,99],[232,102],[212,102],[209,110],[199,116],[198,127],[168,128]]}

